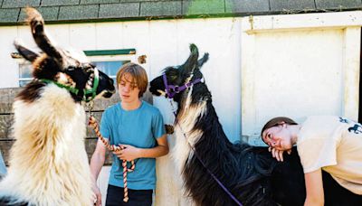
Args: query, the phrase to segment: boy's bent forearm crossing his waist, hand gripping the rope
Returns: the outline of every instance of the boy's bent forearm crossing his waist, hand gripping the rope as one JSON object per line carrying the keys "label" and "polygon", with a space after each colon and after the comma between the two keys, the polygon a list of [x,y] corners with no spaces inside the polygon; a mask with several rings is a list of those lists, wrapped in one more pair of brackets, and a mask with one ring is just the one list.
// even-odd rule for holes
{"label": "boy's bent forearm crossing his waist, hand gripping the rope", "polygon": [[119,152],[114,152],[115,155],[121,160],[132,161],[138,158],[156,158],[159,156],[167,155],[168,144],[167,135],[157,138],[157,146],[153,148],[138,148],[132,145],[119,145],[124,146],[125,149]]}

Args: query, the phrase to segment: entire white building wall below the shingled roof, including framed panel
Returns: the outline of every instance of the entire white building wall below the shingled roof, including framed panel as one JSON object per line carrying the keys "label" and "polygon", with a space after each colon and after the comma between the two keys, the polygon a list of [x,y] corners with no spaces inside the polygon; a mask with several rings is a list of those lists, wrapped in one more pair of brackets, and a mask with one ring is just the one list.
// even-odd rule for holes
{"label": "entire white building wall below the shingled roof, including framed panel", "polygon": [[[60,45],[79,50],[135,48],[146,54],[150,80],[168,65],[182,64],[194,42],[210,53],[203,71],[226,135],[259,144],[262,124],[275,116],[297,120],[334,114],[356,119],[362,12],[294,14],[47,25]],[[0,88],[16,87],[17,65],[9,56],[21,37],[35,47],[26,26],[0,27]],[[164,98],[154,98],[168,124]],[[243,120],[243,121],[242,121]],[[170,146],[174,137],[168,136]],[[105,178],[107,175],[105,175]],[[156,205],[189,205],[176,183],[168,155],[157,159]],[[102,180],[102,184],[107,181]]]}

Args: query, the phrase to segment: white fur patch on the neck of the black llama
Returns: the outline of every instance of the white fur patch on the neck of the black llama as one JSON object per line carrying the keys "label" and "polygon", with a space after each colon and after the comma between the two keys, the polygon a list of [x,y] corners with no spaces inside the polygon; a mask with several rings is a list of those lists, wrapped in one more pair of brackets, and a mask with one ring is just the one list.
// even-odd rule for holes
{"label": "white fur patch on the neck of the black llama", "polygon": [[175,126],[176,144],[171,149],[171,155],[176,163],[178,173],[183,171],[187,157],[192,157],[192,155],[194,155],[190,146],[194,147],[195,143],[203,135],[203,131],[192,131],[192,129],[195,126],[197,117],[205,115],[206,102],[202,101],[191,105],[191,93],[192,87],[190,88],[190,91],[188,91],[186,100],[179,106],[181,109],[177,116],[178,123]]}

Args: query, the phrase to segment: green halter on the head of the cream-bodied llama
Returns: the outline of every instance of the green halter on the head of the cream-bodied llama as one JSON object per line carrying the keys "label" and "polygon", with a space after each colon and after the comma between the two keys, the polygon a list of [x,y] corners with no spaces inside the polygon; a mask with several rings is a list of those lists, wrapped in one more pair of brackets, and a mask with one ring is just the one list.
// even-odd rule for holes
{"label": "green halter on the head of the cream-bodied llama", "polygon": [[[63,85],[57,81],[54,80],[47,80],[47,79],[41,79],[41,81],[45,82],[45,83],[53,83],[56,86],[63,88],[63,89],[67,89],[69,90],[72,94],[78,95],[80,89],[76,89],[76,88],[72,88],[70,86],[67,85]],[[97,68],[94,69],[94,81],[93,81],[93,87],[91,89],[83,89],[83,101],[85,102],[90,102],[91,100],[93,100],[96,95],[97,95],[97,88],[98,85],[100,84],[100,74]],[[87,98],[87,95],[91,94],[91,98]]]}

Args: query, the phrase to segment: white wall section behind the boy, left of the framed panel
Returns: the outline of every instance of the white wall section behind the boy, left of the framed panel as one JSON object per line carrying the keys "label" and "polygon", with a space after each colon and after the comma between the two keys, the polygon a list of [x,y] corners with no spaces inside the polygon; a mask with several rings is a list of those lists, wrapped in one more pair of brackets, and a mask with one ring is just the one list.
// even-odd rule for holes
{"label": "white wall section behind the boy, left of the framed panel", "polygon": [[[123,23],[73,23],[46,25],[46,30],[62,47],[79,50],[114,50],[135,48],[137,56],[146,54],[143,66],[152,80],[170,65],[179,65],[189,55],[189,44],[195,43],[200,51],[209,52],[209,61],[203,72],[214,98],[214,107],[224,126],[226,135],[236,141],[241,136],[241,59],[240,18],[186,19],[162,21],[133,21]],[[28,26],[0,27],[0,88],[17,87],[18,68],[10,57],[15,38],[36,48]],[[165,98],[155,98],[167,124],[173,115]],[[174,137],[168,136],[170,146]],[[107,171],[107,168],[104,168]],[[105,191],[108,175],[103,172],[99,181]],[[174,171],[168,155],[157,160],[156,205],[185,203],[175,183],[179,174]],[[103,199],[104,200],[104,199]]]}

